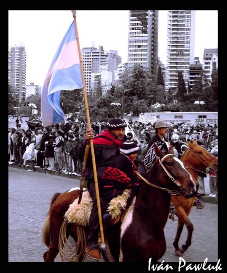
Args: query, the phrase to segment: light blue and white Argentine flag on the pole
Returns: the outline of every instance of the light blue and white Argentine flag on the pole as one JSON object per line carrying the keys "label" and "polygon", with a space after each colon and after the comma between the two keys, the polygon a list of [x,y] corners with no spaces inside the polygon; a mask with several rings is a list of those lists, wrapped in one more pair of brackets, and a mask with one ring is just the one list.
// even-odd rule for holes
{"label": "light blue and white Argentine flag on the pole", "polygon": [[55,54],[41,91],[41,117],[44,127],[65,122],[60,106],[61,90],[80,88],[82,73],[73,21]]}

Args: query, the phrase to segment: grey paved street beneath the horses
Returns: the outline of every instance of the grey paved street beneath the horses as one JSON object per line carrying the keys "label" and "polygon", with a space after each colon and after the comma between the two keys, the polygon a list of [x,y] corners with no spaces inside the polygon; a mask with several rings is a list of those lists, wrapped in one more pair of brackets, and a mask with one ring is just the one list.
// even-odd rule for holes
{"label": "grey paved street beneath the horses", "polygon": [[[27,172],[9,167],[8,250],[9,262],[43,262],[46,246],[42,243],[42,228],[50,200],[57,192],[78,187],[79,180],[64,176]],[[218,261],[218,205],[205,203],[204,209],[192,208],[190,219],[194,224],[192,245],[184,254],[186,262]],[[172,241],[177,221],[168,220],[165,227],[167,250],[165,262],[178,262]],[[186,236],[185,228],[181,242]],[[59,255],[55,262],[61,262]]]}

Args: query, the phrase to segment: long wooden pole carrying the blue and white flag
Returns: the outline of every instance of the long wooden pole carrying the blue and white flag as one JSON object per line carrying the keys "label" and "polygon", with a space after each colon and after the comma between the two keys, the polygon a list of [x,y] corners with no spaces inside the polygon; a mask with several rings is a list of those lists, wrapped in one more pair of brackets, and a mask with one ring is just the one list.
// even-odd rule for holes
{"label": "long wooden pole carrying the blue and white flag", "polygon": [[[81,58],[81,52],[80,52],[80,46],[79,46],[79,38],[78,38],[78,31],[77,31],[77,25],[76,25],[76,11],[72,11],[72,12],[73,12],[75,29],[76,29],[76,41],[77,41],[77,46],[78,46],[79,62],[80,62],[80,68],[81,68],[81,74],[82,74],[83,97],[84,97],[84,107],[85,107],[85,110],[86,110],[86,117],[87,117],[87,127],[88,127],[88,130],[91,130],[89,108],[88,108],[88,103],[87,103],[87,94],[86,94],[85,80],[84,80],[84,74],[83,74],[83,64],[82,64],[82,58]],[[98,207],[98,219],[99,219],[99,226],[100,226],[101,243],[105,244],[104,233],[103,233],[103,224],[102,224],[102,212],[101,212],[100,197],[99,197],[99,190],[98,190],[98,177],[97,177],[97,170],[96,170],[96,164],[95,164],[93,139],[90,139],[90,149],[91,149],[91,157],[92,157],[93,172],[94,172],[94,183],[95,183],[95,193],[96,193],[97,207]]]}

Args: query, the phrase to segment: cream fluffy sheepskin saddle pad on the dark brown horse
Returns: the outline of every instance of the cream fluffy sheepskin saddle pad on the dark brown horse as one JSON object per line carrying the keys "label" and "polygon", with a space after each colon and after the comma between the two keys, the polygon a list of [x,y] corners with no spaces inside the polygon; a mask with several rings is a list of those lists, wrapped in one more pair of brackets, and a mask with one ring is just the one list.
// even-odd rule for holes
{"label": "cream fluffy sheepskin saddle pad on the dark brown horse", "polygon": [[[122,209],[125,209],[131,191],[131,189],[126,189],[122,195],[118,195],[110,201],[108,211],[112,216],[112,220],[117,218]],[[92,205],[90,194],[88,191],[84,191],[81,202],[78,204],[78,198],[75,199],[74,203],[66,211],[65,216],[70,223],[86,226],[89,222]]]}

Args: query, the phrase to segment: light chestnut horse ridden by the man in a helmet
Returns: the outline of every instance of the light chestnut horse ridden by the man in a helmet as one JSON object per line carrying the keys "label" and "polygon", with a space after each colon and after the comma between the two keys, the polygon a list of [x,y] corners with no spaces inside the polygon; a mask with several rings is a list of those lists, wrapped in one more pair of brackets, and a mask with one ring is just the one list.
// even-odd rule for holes
{"label": "light chestnut horse ridden by the man in a helmet", "polygon": [[[188,143],[187,150],[183,153],[181,161],[184,162],[187,170],[190,174],[197,180],[198,172],[214,172],[218,169],[218,160],[215,156],[210,154],[206,149],[199,146],[197,141],[194,140],[193,143]],[[198,187],[198,182],[197,182]],[[195,197],[185,199],[183,196],[171,196],[171,203],[175,206],[177,210],[178,225],[177,232],[173,242],[175,248],[175,254],[181,256],[191,245],[193,225],[188,218],[192,206],[194,205]],[[183,226],[186,226],[188,234],[186,242],[179,248],[178,243],[180,239]]]}

